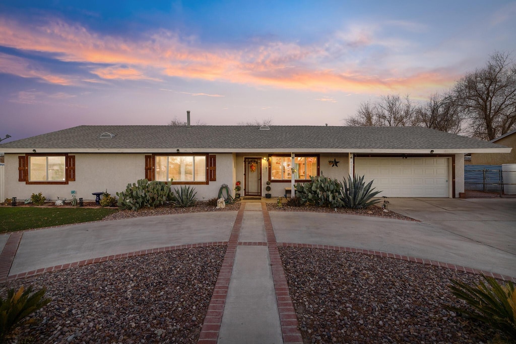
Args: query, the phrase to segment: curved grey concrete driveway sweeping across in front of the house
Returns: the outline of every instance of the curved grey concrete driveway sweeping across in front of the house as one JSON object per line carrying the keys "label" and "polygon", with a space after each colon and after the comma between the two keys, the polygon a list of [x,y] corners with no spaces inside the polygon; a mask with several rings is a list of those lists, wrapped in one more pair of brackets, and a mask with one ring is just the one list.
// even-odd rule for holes
{"label": "curved grey concrete driveway sweeping across in front of the house", "polygon": [[[278,242],[382,251],[516,277],[516,199],[389,201],[391,210],[422,222],[297,211],[269,215]],[[9,275],[168,245],[227,241],[235,218],[236,211],[209,212],[25,232]],[[247,224],[264,226],[263,219],[246,212]],[[265,240],[251,234],[244,231],[241,240]],[[0,235],[0,251],[9,236]]]}

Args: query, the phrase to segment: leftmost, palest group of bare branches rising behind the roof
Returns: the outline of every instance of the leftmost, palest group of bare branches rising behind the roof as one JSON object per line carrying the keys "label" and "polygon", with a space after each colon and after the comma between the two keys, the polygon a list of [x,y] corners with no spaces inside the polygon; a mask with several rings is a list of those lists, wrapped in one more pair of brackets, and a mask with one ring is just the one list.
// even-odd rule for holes
{"label": "leftmost, palest group of bare branches rising behind the roof", "polygon": [[409,96],[399,94],[381,96],[374,104],[365,102],[354,117],[346,120],[351,126],[410,126],[416,125],[415,105]]}

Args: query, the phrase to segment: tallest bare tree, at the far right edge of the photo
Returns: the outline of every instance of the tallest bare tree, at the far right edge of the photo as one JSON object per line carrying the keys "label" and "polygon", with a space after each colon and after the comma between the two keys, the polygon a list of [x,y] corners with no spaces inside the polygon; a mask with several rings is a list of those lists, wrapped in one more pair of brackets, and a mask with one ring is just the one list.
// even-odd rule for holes
{"label": "tallest bare tree, at the far right edge of the photo", "polygon": [[472,137],[493,140],[516,127],[516,64],[508,53],[495,52],[454,91]]}

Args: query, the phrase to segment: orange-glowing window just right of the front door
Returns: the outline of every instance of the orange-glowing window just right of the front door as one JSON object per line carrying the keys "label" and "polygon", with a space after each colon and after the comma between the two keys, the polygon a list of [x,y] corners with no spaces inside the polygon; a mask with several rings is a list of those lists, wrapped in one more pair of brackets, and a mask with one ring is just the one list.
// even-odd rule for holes
{"label": "orange-glowing window just right of the front door", "polygon": [[271,156],[270,159],[270,180],[290,181],[292,169],[296,181],[308,181],[310,176],[316,176],[319,171],[318,156],[296,156],[294,166],[290,156]]}

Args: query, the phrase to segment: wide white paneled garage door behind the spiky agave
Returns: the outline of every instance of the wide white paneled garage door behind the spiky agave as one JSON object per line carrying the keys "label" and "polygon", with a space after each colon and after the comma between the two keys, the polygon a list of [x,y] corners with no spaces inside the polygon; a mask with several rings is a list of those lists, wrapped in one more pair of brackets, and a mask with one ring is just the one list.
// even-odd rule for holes
{"label": "wide white paneled garage door behind the spiky agave", "polygon": [[387,197],[449,197],[447,158],[355,158],[355,175]]}

